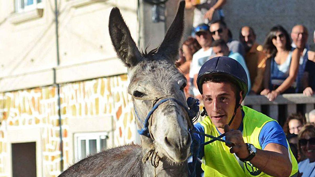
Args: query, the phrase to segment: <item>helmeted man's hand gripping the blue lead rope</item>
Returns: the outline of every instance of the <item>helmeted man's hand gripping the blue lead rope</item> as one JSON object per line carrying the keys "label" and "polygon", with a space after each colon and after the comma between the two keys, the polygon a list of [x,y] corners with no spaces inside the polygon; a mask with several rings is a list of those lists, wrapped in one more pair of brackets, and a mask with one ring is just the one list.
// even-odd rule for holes
{"label": "helmeted man's hand gripping the blue lead rope", "polygon": [[226,144],[226,146],[231,147],[230,152],[235,153],[238,158],[247,158],[249,156],[249,151],[247,145],[243,140],[241,131],[230,130],[228,125],[224,126],[225,140],[230,141],[232,144]]}

